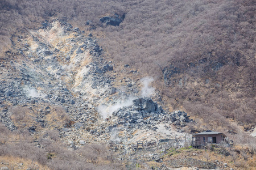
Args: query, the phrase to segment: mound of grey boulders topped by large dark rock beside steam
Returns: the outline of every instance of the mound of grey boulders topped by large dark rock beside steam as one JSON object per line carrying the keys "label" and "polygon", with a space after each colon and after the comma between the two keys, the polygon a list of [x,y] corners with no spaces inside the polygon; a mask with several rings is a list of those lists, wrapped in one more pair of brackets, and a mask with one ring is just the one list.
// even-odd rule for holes
{"label": "mound of grey boulders topped by large dark rock beside steam", "polygon": [[172,113],[164,111],[148,97],[133,100],[133,105],[119,108],[113,112],[113,116],[119,118],[118,124],[127,128],[149,128],[152,130],[155,130],[154,126],[160,122],[185,126],[187,122],[193,121],[189,120],[189,116],[184,111]]}

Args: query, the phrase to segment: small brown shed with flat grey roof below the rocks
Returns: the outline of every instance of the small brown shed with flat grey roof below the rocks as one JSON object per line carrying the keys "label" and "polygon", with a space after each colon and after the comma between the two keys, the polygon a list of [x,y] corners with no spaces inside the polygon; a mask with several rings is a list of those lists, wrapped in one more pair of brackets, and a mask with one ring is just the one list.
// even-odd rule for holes
{"label": "small brown shed with flat grey roof below the rocks", "polygon": [[226,135],[218,131],[207,130],[201,133],[192,135],[192,146],[200,147],[210,144],[220,144],[222,141],[226,141]]}

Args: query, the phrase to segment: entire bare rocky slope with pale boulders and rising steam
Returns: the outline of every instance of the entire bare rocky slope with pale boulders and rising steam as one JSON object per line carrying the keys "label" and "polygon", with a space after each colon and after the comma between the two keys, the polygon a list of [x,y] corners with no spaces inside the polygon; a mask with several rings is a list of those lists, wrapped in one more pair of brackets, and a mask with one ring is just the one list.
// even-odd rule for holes
{"label": "entire bare rocky slope with pale boulders and rising steam", "polygon": [[112,62],[102,57],[97,39],[64,20],[45,22],[38,30],[24,29],[11,40],[13,49],[1,62],[1,122],[10,130],[42,134],[55,129],[76,148],[92,141],[118,141],[118,133],[124,132],[131,139],[135,131],[152,133],[160,126],[167,129],[163,136],[171,135],[173,122],[192,122],[187,113],[164,111],[148,98],[161,101],[148,86],[150,79],[143,79],[140,88],[142,82],[123,77],[126,72],[137,76],[137,71],[129,66],[124,74],[114,71]]}

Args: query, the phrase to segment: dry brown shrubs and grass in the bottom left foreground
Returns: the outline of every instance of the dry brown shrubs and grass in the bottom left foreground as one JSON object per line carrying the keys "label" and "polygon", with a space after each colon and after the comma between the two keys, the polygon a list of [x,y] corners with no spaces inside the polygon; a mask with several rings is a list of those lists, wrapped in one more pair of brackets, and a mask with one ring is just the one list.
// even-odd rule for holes
{"label": "dry brown shrubs and grass in the bottom left foreground", "polygon": [[108,146],[88,145],[78,150],[67,150],[58,141],[56,131],[46,133],[38,141],[41,147],[35,147],[31,135],[26,135],[24,131],[10,131],[0,124],[1,162],[9,163],[9,168],[23,163],[23,168],[123,169],[122,164],[115,163],[114,154]]}

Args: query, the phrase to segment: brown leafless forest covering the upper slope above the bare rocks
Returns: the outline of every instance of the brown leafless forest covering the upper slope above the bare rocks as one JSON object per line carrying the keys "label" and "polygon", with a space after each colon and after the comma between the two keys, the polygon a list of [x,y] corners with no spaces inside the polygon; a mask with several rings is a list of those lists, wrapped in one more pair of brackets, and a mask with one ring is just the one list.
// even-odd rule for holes
{"label": "brown leafless forest covering the upper slope above the bare rocks", "polygon": [[[183,106],[208,128],[228,119],[255,124],[255,1],[4,0],[0,6],[2,49],[10,48],[17,29],[38,28],[45,19],[65,18],[88,30],[94,25],[104,35],[105,56],[154,76],[172,108]],[[115,13],[125,14],[119,27],[98,22]],[[178,74],[164,82],[168,69]]]}

